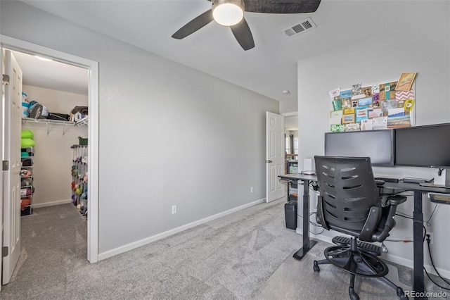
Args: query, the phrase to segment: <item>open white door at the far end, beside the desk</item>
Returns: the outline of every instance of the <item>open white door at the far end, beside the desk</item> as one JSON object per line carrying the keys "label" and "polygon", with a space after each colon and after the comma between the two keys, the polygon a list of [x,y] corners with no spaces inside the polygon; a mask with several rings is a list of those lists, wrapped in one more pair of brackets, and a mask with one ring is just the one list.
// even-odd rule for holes
{"label": "open white door at the far end, beside the desk", "polygon": [[266,202],[285,194],[278,175],[284,174],[284,116],[266,111]]}

